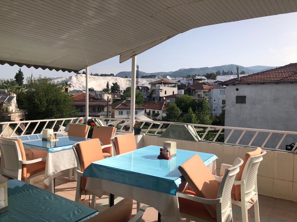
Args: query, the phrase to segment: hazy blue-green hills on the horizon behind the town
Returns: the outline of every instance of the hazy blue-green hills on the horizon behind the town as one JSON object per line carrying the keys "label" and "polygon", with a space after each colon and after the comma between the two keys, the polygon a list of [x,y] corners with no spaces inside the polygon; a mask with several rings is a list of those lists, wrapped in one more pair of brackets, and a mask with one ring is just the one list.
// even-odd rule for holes
{"label": "hazy blue-green hills on the horizon behind the town", "polygon": [[[188,69],[179,69],[176,71],[171,71],[171,72],[157,72],[157,73],[146,73],[143,71],[139,71],[139,78],[141,76],[164,76],[166,77],[169,75],[170,77],[184,77],[187,75],[205,75],[206,73],[216,73],[220,71],[221,74],[225,75],[232,75],[236,74],[236,66],[239,67],[240,72],[244,71],[245,75],[252,74],[252,73],[258,73],[262,72],[268,69],[273,69],[276,68],[277,66],[264,66],[264,65],[255,65],[255,66],[250,66],[250,67],[244,67],[241,65],[234,65],[234,64],[229,64],[229,65],[220,65],[220,66],[214,66],[214,67],[201,67],[201,68],[188,68]],[[116,74],[117,77],[125,77],[127,76],[128,78],[131,77],[131,71],[123,71],[119,72]]]}

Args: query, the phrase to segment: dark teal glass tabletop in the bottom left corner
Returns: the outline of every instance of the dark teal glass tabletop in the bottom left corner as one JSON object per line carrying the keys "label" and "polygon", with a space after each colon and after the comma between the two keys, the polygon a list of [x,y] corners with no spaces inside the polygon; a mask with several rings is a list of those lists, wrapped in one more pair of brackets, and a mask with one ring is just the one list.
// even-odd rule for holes
{"label": "dark teal glass tabletop in the bottom left corner", "polygon": [[0,221],[84,221],[97,210],[19,180],[7,181],[8,210]]}

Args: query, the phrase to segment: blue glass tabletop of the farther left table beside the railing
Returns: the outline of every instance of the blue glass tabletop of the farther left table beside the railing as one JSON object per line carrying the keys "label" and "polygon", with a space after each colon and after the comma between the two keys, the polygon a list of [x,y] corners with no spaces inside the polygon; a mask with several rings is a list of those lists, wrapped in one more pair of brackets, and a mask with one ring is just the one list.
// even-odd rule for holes
{"label": "blue glass tabletop of the farther left table beside the railing", "polygon": [[[29,139],[28,139],[29,137]],[[72,145],[89,140],[89,138],[78,137],[78,136],[66,136],[62,134],[57,135],[59,141],[46,141],[42,140],[42,134],[30,135],[30,136],[18,136],[23,142],[23,146],[26,149],[38,149],[46,150],[48,152],[56,152],[63,149],[71,149]]]}

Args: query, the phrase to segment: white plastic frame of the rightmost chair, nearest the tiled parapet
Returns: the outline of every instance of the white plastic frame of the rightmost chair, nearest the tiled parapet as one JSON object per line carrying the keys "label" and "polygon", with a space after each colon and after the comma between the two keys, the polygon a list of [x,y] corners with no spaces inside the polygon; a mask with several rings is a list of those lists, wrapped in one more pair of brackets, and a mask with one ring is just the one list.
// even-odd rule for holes
{"label": "white plastic frame of the rightmost chair, nearest the tiled parapet", "polygon": [[[247,163],[244,166],[241,180],[235,180],[235,185],[240,185],[240,197],[241,200],[233,200],[232,203],[241,207],[242,221],[249,221],[248,210],[254,205],[255,207],[255,222],[260,222],[259,215],[259,201],[258,201],[258,189],[257,189],[257,174],[260,162],[263,160],[263,155],[266,151],[262,150],[262,153],[256,156],[248,158]],[[234,165],[234,164],[233,164]],[[220,176],[232,167],[232,165],[222,164],[220,170]],[[234,189],[234,188],[233,188]]]}

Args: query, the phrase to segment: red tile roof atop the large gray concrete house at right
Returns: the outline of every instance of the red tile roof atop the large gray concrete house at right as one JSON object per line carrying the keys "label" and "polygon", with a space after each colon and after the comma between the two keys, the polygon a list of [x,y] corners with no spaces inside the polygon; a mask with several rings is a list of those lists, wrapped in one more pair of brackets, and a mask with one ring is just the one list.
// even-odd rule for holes
{"label": "red tile roof atop the large gray concrete house at right", "polygon": [[237,78],[219,83],[226,84],[241,84],[241,83],[276,83],[276,82],[297,82],[297,63],[281,66],[275,69],[266,70],[260,73],[245,75],[240,77],[240,82]]}

